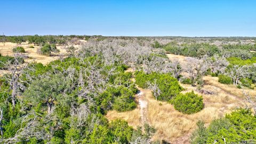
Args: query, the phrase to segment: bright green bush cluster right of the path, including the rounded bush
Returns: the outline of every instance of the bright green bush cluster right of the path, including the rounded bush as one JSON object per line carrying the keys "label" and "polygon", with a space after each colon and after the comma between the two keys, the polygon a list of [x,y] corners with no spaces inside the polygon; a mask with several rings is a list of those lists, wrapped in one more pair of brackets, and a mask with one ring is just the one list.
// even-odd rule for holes
{"label": "bright green bush cluster right of the path, including the rounded bush", "polygon": [[203,98],[189,92],[180,93],[183,88],[179,85],[177,78],[171,74],[150,73],[145,74],[143,71],[135,73],[136,84],[140,87],[147,88],[149,84],[156,86],[153,89],[153,95],[157,100],[171,102],[174,108],[184,114],[194,114],[202,110],[204,107]]}

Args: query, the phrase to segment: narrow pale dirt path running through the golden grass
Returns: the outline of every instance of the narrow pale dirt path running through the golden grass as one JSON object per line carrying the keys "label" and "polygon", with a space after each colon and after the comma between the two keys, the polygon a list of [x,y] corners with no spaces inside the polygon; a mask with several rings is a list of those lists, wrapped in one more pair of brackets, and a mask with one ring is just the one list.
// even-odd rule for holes
{"label": "narrow pale dirt path running through the golden grass", "polygon": [[143,93],[143,89],[139,88],[137,97],[139,99],[141,124],[144,125],[145,123],[148,123],[148,118],[147,118],[148,102],[145,99],[145,93]]}

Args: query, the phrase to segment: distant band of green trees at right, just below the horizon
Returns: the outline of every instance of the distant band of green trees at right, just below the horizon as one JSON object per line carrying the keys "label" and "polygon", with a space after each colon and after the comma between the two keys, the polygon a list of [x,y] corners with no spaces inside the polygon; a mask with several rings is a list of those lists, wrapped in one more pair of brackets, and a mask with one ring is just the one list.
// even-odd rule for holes
{"label": "distant band of green trees at right, just below the horizon", "polygon": [[214,54],[225,54],[227,57],[236,57],[246,60],[256,56],[255,52],[250,52],[256,50],[256,44],[224,44],[221,45],[221,47],[218,47],[217,45],[209,43],[178,44],[177,42],[171,42],[166,45],[159,45],[158,42],[155,42],[153,46],[186,57],[202,57],[205,54],[211,57]]}

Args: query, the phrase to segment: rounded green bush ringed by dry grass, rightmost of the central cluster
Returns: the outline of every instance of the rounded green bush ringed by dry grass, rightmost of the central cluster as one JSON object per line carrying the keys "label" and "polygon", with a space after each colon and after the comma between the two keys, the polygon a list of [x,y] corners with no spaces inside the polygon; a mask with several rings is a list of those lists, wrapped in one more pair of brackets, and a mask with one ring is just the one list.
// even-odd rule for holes
{"label": "rounded green bush ringed by dry grass, rightmost of the central cluster", "polygon": [[179,94],[171,101],[174,108],[184,114],[194,114],[204,108],[203,98],[192,92]]}

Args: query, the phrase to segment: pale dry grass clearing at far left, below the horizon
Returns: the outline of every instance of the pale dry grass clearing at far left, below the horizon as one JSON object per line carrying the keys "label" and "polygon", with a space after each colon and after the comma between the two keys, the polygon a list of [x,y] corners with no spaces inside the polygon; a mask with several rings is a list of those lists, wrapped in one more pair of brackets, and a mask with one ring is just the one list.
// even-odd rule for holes
{"label": "pale dry grass clearing at far left, below the horizon", "polygon": [[3,43],[0,43],[0,53],[2,55],[12,55],[12,49],[13,47],[17,47],[17,46],[22,46],[24,47],[26,54],[28,55],[28,59],[25,59],[26,62],[31,62],[31,61],[36,61],[36,62],[41,62],[44,65],[53,61],[53,60],[57,60],[60,58],[61,55],[65,55],[66,54],[66,50],[62,48],[62,46],[57,46],[57,48],[60,50],[59,54],[53,54],[52,57],[46,56],[46,55],[41,55],[37,53],[37,49],[40,49],[40,46],[34,46],[35,48],[29,48],[29,46],[31,46],[32,44],[28,44],[28,43],[22,43],[21,45],[17,45],[15,43],[5,43],[5,46],[3,45]]}

